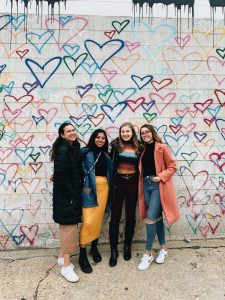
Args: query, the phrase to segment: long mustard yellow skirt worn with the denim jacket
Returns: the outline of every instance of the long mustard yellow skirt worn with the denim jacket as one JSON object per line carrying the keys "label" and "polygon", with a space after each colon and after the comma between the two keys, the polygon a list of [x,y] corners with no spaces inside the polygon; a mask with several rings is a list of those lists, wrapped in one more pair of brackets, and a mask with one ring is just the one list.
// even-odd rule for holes
{"label": "long mustard yellow skirt worn with the denim jacket", "polygon": [[102,230],[102,222],[108,199],[109,186],[107,178],[96,176],[96,191],[98,206],[82,208],[82,226],[80,230],[80,244],[88,244],[99,238]]}

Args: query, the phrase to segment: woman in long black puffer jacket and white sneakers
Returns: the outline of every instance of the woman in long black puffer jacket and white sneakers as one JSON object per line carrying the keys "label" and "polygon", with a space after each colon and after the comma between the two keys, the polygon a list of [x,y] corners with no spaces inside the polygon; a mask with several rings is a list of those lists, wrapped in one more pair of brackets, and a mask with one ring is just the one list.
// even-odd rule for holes
{"label": "woman in long black puffer jacket and white sneakers", "polygon": [[70,282],[76,282],[79,277],[70,263],[70,255],[75,251],[77,224],[81,222],[80,144],[70,123],[63,123],[58,134],[51,150],[54,161],[53,219],[59,224],[60,231],[58,264],[62,266],[61,275]]}

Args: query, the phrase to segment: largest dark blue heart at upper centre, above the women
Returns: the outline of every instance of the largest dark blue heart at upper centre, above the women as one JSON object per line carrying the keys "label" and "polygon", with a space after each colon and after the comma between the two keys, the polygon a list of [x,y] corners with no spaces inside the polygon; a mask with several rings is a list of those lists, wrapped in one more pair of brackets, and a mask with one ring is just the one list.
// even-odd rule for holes
{"label": "largest dark blue heart at upper centre, above the women", "polygon": [[[107,46],[110,47],[108,48]],[[98,44],[93,40],[86,40],[84,41],[84,47],[98,68],[101,69],[110,60],[110,58],[122,50],[124,47],[124,41],[120,39],[114,39],[106,41],[104,44]],[[107,49],[108,51],[104,53],[104,49]],[[109,49],[111,50],[110,53],[108,53]],[[103,56],[104,58],[102,60],[101,58]]]}

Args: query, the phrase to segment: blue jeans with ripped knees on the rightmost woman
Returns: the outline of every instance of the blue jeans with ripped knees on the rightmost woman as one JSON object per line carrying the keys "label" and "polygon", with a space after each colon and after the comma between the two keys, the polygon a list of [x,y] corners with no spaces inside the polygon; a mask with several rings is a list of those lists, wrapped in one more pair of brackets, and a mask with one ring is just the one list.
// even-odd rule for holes
{"label": "blue jeans with ripped knees on the rightmost woman", "polygon": [[152,181],[152,177],[144,178],[144,197],[148,208],[147,219],[151,220],[152,224],[146,224],[147,243],[146,250],[150,251],[157,234],[159,244],[165,244],[165,228],[162,218],[162,205],[159,193],[159,184]]}

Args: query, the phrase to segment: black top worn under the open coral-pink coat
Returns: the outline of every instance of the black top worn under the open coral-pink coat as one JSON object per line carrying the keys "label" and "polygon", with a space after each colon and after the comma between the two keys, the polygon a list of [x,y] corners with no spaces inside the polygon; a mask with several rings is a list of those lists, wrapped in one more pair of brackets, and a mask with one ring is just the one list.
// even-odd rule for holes
{"label": "black top worn under the open coral-pink coat", "polygon": [[155,142],[151,144],[146,144],[145,153],[142,156],[142,168],[143,168],[143,176],[156,175],[155,170],[155,159],[154,159],[154,151],[155,151]]}

